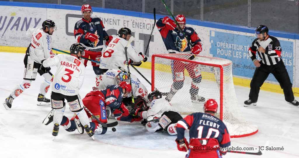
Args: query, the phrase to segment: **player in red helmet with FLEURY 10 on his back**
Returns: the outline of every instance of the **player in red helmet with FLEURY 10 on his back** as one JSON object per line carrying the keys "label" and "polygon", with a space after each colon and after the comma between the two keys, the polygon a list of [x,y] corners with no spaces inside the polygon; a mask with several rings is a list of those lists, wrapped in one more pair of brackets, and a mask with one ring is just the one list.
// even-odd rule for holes
{"label": "player in red helmet with FLEURY 10 on his back", "polygon": [[[217,109],[217,102],[208,99],[204,104],[205,113],[192,113],[178,121],[176,143],[179,151],[188,151],[186,157],[219,158],[226,154],[223,149],[231,145],[231,140],[225,124],[214,116]],[[184,137],[187,129],[190,130],[189,144]]]}

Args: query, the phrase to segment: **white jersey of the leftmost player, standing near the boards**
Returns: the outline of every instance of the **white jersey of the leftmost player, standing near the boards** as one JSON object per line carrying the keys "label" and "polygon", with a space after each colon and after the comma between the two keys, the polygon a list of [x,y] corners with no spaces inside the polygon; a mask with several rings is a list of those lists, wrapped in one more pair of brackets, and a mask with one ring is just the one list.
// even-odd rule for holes
{"label": "white jersey of the leftmost player, standing near the boards", "polygon": [[34,62],[41,63],[42,60],[55,56],[52,52],[51,35],[45,33],[42,27],[29,28],[26,34],[31,36],[29,53]]}

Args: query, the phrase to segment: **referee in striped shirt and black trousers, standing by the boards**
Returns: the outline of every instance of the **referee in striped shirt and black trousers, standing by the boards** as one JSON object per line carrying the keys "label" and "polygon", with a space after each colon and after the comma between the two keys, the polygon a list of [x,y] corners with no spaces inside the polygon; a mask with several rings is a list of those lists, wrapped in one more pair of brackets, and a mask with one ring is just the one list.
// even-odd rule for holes
{"label": "referee in striped shirt and black trousers, standing by the boards", "polygon": [[[260,25],[255,29],[257,38],[252,42],[248,50],[252,62],[257,67],[250,82],[249,99],[244,102],[244,106],[257,105],[260,87],[263,85],[270,73],[274,75],[283,89],[286,101],[298,107],[299,102],[295,100],[292,91],[292,83],[289,74],[281,58],[281,47],[277,38],[269,36],[269,29],[265,25]],[[257,60],[256,55],[260,56]]]}

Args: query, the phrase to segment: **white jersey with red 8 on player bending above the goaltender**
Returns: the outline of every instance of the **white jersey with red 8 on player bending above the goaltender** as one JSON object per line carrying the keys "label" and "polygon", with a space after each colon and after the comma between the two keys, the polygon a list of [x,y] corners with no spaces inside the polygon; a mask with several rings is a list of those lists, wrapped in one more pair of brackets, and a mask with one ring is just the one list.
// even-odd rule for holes
{"label": "white jersey with red 8 on player bending above the goaltender", "polygon": [[[125,47],[128,44],[128,41],[116,35],[112,35],[112,37],[113,39],[100,58],[101,69],[124,68],[126,63]],[[142,55],[136,53],[132,45],[128,47],[127,54],[128,60],[132,59],[134,62],[140,62],[144,59]]]}

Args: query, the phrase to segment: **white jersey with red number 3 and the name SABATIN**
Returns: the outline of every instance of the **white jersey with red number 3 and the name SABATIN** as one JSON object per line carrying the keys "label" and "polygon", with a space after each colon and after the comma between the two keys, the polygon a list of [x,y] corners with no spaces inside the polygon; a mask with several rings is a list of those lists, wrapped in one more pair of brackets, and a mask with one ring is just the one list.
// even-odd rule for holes
{"label": "white jersey with red number 3 and the name SABATIN", "polygon": [[85,75],[85,66],[75,56],[59,54],[45,60],[42,65],[46,67],[57,66],[52,91],[66,96],[79,94]]}

